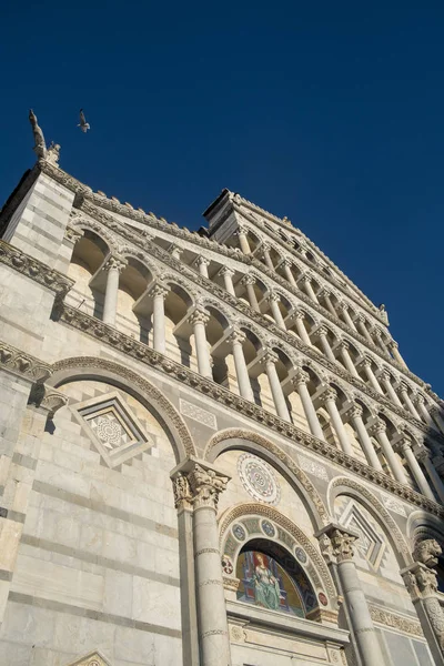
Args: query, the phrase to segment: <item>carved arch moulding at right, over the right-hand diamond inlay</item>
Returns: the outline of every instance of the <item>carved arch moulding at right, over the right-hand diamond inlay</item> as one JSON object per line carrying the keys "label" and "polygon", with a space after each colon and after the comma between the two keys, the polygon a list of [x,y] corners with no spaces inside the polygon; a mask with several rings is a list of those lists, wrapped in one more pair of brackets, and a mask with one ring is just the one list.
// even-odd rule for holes
{"label": "carved arch moulding at right, over the right-hand diamond inlay", "polygon": [[334,501],[340,495],[347,495],[349,497],[356,500],[359,504],[362,504],[369,511],[376,523],[381,525],[389,543],[393,547],[400,568],[412,564],[412,554],[400,527],[384,505],[369,491],[369,488],[345,476],[336,476],[336,478],[333,478],[330,482],[327,490],[329,509],[332,515],[334,515]]}

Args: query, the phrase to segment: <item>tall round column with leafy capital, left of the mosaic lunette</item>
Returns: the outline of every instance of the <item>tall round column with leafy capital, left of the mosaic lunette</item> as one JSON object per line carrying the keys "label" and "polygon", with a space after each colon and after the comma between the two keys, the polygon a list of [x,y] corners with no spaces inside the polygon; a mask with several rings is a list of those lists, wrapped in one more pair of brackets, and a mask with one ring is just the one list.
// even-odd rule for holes
{"label": "tall round column with leafy capital, left of the mosaic lunette", "polygon": [[229,477],[203,462],[188,461],[183,468],[180,487],[175,487],[174,493],[176,504],[184,497],[193,506],[199,663],[200,666],[230,666],[230,637],[216,517],[219,496],[225,490]]}

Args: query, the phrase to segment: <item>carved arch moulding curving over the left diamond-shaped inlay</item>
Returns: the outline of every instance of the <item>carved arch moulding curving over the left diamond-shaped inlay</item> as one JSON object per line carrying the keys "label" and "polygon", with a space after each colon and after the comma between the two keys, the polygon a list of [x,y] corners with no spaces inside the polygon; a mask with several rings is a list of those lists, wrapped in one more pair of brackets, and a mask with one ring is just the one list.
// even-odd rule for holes
{"label": "carved arch moulding curving over the left diamond-shaped inlay", "polygon": [[122,389],[145,407],[154,410],[157,417],[165,425],[178,463],[190,455],[196,455],[191,434],[176,408],[159,389],[129,367],[105,359],[77,356],[57,361],[51,371],[47,384],[53,387],[80,380],[93,380]]}

